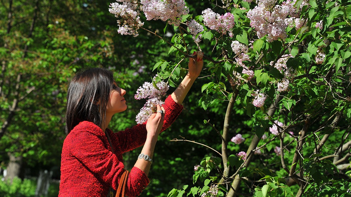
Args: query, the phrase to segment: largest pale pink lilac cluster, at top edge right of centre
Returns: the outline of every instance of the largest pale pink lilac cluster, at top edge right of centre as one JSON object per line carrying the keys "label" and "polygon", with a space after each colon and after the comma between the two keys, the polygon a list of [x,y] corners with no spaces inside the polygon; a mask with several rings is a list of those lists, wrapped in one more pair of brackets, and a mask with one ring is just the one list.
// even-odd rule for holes
{"label": "largest pale pink lilac cluster, at top edge right of centre", "polygon": [[[276,5],[277,0],[259,0],[258,5],[247,12],[247,18],[251,20],[251,27],[256,29],[258,38],[267,35],[269,42],[279,38],[285,39],[288,25],[295,25],[298,29],[301,20],[295,3],[296,0],[287,0],[282,5]],[[287,18],[289,15],[291,18]]]}

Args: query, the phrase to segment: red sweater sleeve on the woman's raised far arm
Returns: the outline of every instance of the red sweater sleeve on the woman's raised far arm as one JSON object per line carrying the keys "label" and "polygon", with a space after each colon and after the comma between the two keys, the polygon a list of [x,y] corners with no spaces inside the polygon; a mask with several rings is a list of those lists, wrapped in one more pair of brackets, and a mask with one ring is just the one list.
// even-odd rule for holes
{"label": "red sweater sleeve on the woman's raised far arm", "polygon": [[[165,117],[161,132],[167,129],[176,120],[183,109],[183,106],[176,103],[171,95],[166,98],[163,107],[165,108]],[[112,141],[118,140],[122,153],[133,150],[144,145],[146,141],[146,122],[144,124],[135,125],[130,129],[119,131],[118,133],[111,133],[111,135]]]}

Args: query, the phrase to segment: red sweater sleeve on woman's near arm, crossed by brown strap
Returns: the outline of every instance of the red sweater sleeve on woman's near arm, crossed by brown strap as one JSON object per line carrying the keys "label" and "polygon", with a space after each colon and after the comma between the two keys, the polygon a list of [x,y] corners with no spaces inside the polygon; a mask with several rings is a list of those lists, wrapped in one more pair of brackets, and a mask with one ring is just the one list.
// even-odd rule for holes
{"label": "red sweater sleeve on woman's near arm, crossed by brown strap", "polygon": [[[87,131],[73,133],[69,139],[71,154],[93,174],[117,190],[124,164],[108,150],[108,142],[104,143],[107,138],[104,139],[103,135],[103,133],[99,136]],[[143,171],[133,168],[127,183],[127,195],[138,196],[148,185],[149,180]]]}

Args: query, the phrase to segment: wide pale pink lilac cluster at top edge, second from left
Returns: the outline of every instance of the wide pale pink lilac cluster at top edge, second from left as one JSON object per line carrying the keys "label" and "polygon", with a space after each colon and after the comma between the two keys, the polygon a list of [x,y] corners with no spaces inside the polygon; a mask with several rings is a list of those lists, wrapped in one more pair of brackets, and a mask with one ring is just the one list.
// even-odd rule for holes
{"label": "wide pale pink lilac cluster at top edge, second from left", "polygon": [[189,13],[184,0],[141,0],[140,3],[146,20],[160,19],[170,25],[179,26],[181,16]]}

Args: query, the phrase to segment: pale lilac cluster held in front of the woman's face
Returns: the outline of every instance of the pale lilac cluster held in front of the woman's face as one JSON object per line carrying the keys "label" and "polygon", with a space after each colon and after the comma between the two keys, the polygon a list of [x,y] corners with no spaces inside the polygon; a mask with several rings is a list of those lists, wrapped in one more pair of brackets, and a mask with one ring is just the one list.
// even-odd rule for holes
{"label": "pale lilac cluster held in front of the woman's face", "polygon": [[152,83],[145,82],[143,87],[139,87],[137,94],[134,95],[137,100],[148,99],[135,117],[138,124],[144,123],[151,114],[156,112],[157,104],[162,105],[164,103],[161,99],[166,95],[169,86],[164,81],[156,82],[156,77],[157,75],[153,77]]}

